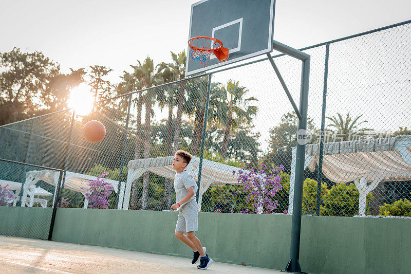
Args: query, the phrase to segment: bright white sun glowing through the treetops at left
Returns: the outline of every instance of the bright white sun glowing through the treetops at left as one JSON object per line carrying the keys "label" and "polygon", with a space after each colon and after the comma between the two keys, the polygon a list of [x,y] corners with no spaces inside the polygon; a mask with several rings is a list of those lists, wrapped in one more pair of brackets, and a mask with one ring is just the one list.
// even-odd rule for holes
{"label": "bright white sun glowing through the treetops at left", "polygon": [[90,87],[82,83],[71,89],[67,105],[70,108],[74,108],[78,115],[89,114],[94,105],[94,96],[90,93]]}

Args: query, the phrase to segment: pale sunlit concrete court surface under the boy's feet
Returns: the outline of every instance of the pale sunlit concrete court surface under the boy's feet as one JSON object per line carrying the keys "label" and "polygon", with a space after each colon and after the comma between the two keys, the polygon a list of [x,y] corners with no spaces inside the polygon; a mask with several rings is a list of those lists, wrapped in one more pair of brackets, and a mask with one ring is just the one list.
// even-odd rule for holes
{"label": "pale sunlit concrete court surface under the boy's feet", "polygon": [[[212,256],[210,256],[212,258]],[[213,262],[197,269],[188,258],[100,246],[0,236],[1,273],[286,273]]]}

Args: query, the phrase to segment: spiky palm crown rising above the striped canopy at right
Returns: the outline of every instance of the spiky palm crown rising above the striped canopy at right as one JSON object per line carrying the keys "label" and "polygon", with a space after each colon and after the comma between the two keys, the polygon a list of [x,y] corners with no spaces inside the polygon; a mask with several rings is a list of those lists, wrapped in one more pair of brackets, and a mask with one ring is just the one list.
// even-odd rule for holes
{"label": "spiky palm crown rising above the striped canopy at right", "polygon": [[350,112],[348,112],[345,119],[340,113],[337,113],[337,116],[327,116],[326,118],[331,121],[328,127],[333,135],[338,136],[339,141],[349,141],[350,138],[364,136],[366,131],[372,131],[367,127],[359,127],[361,124],[367,123],[367,121],[358,122],[361,116],[363,115],[351,118]]}

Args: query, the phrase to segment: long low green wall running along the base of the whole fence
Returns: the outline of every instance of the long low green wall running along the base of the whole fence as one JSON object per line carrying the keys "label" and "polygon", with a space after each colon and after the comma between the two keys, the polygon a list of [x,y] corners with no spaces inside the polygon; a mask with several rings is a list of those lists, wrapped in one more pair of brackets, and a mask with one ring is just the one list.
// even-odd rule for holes
{"label": "long low green wall running along the base of the whole fence", "polygon": [[[0,207],[0,234],[47,239],[51,208]],[[174,238],[176,212],[57,210],[53,241],[191,257]],[[284,269],[291,216],[200,213],[196,233],[219,262]],[[300,263],[309,273],[411,273],[411,221],[303,216]]]}

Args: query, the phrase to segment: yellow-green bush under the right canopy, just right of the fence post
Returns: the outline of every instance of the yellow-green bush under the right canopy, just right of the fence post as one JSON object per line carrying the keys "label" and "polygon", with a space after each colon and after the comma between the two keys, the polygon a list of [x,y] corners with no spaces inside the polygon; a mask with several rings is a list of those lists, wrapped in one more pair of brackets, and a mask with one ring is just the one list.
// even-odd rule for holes
{"label": "yellow-green bush under the right canopy, just right of the fence post", "polygon": [[[356,185],[336,184],[327,190],[322,198],[320,215],[324,216],[353,216],[358,214],[360,193]],[[371,193],[367,195],[366,212],[369,212],[368,201],[372,199]],[[369,214],[369,213],[368,213]]]}

